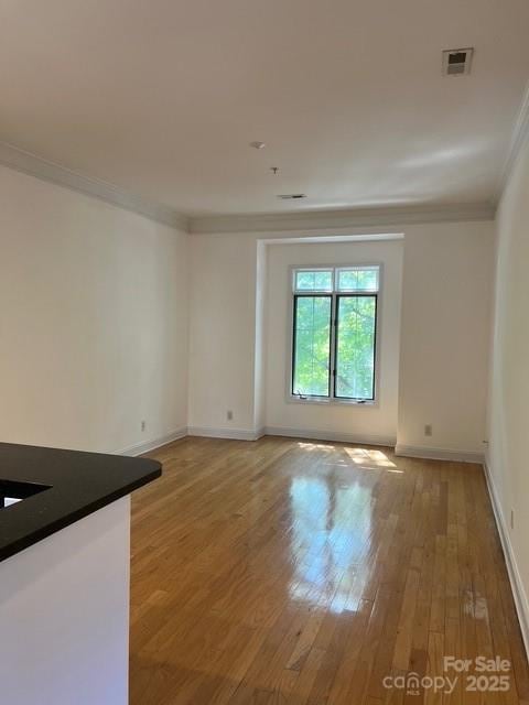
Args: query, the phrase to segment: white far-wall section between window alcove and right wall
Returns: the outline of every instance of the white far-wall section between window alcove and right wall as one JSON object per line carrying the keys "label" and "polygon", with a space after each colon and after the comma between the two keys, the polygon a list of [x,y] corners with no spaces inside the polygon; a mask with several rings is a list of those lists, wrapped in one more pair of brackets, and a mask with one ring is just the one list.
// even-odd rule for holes
{"label": "white far-wall section between window alcove and right wall", "polygon": [[406,229],[398,452],[484,452],[493,242],[492,223]]}

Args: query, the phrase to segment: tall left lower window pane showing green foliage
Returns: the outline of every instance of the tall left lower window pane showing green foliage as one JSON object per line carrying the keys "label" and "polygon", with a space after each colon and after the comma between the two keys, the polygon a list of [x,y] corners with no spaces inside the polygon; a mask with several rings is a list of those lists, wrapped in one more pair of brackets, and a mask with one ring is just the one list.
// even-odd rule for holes
{"label": "tall left lower window pane showing green foliage", "polygon": [[292,393],[328,397],[331,296],[296,296]]}

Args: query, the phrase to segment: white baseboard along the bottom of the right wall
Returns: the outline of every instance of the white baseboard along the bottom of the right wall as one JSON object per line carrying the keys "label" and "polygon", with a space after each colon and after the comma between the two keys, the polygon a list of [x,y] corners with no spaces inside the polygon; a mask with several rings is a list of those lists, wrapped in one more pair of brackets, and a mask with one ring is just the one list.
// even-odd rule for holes
{"label": "white baseboard along the bottom of the right wall", "polygon": [[496,527],[498,529],[499,540],[501,542],[501,549],[504,551],[505,564],[507,565],[510,588],[512,590],[512,597],[515,598],[515,607],[518,615],[518,621],[520,623],[521,638],[523,639],[526,654],[529,659],[529,599],[523,588],[523,583],[521,582],[520,571],[518,570],[512,544],[510,543],[508,524],[505,521],[498,491],[496,489],[494,477],[490,473],[490,468],[486,458],[484,458],[483,460],[483,469],[485,474],[485,480],[487,482],[488,496],[490,497],[490,503],[493,506]]}

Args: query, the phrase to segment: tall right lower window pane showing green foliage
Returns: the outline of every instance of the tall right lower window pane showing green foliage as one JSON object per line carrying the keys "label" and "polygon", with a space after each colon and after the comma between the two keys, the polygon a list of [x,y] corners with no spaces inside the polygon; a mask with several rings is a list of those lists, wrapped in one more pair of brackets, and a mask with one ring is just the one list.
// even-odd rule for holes
{"label": "tall right lower window pane showing green foliage", "polygon": [[336,397],[375,399],[376,296],[339,296]]}

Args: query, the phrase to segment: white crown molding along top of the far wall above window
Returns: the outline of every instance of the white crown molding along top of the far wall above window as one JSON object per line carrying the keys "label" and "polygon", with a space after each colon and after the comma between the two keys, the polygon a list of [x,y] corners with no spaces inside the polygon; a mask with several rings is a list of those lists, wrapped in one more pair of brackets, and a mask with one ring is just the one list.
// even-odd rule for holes
{"label": "white crown molding along top of the far wall above window", "polygon": [[494,220],[495,207],[489,203],[387,208],[349,208],[304,210],[287,214],[248,214],[199,216],[190,219],[190,232],[284,232],[328,228],[371,228],[423,223]]}

